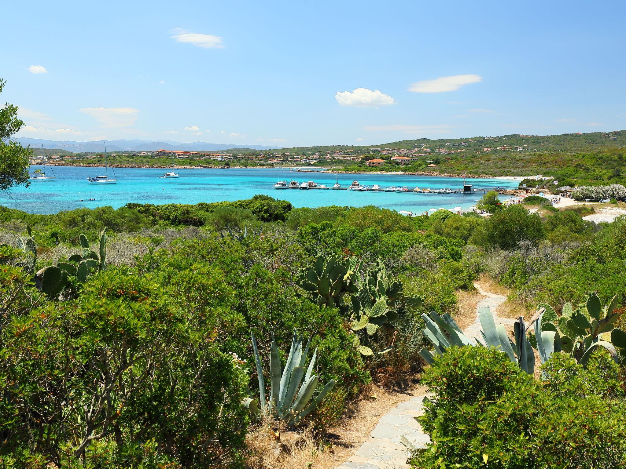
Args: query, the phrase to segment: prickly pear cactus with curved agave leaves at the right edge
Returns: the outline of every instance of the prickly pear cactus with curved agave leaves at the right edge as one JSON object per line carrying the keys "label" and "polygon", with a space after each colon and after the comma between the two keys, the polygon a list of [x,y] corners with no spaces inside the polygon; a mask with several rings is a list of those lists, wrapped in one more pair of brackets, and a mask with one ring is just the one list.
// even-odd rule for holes
{"label": "prickly pear cactus with curved agave leaves at the right edge", "polygon": [[586,295],[584,305],[576,310],[565,303],[561,316],[548,303],[538,305],[535,334],[530,340],[536,344],[541,363],[545,363],[553,351],[566,351],[583,366],[594,350],[604,348],[618,361],[617,348],[626,348],[626,333],[615,327],[620,313],[615,312],[618,300],[613,296],[608,305],[602,306],[594,292]]}

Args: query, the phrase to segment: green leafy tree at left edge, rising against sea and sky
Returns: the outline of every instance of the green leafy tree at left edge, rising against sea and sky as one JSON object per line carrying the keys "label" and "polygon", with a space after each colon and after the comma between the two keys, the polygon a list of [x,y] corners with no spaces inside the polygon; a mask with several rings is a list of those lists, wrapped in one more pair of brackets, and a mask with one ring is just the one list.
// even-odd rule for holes
{"label": "green leafy tree at left edge, rising against sea and sky", "polygon": [[[4,79],[0,79],[0,93],[4,83]],[[28,157],[31,150],[23,148],[16,141],[9,141],[9,137],[23,125],[23,121],[18,119],[18,106],[5,103],[4,108],[0,109],[0,191],[20,184],[28,186]]]}

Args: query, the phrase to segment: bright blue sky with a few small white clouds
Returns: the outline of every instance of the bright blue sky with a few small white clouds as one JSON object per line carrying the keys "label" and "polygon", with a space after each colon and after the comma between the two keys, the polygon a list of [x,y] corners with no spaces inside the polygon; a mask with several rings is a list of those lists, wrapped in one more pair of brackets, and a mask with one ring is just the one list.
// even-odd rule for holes
{"label": "bright blue sky with a few small white clouds", "polygon": [[11,2],[18,136],[302,146],[626,128],[623,2]]}

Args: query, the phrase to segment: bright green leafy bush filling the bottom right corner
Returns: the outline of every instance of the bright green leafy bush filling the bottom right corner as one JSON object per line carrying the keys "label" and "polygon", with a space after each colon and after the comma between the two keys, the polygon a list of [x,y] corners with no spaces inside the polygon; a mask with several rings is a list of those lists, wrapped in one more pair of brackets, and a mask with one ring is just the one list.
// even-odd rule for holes
{"label": "bright green leafy bush filling the bottom right corner", "polygon": [[[626,464],[626,411],[617,366],[587,370],[555,354],[537,381],[493,348],[451,348],[428,368],[434,393],[420,418],[433,443],[416,468],[617,468]],[[608,384],[607,384],[608,380]]]}

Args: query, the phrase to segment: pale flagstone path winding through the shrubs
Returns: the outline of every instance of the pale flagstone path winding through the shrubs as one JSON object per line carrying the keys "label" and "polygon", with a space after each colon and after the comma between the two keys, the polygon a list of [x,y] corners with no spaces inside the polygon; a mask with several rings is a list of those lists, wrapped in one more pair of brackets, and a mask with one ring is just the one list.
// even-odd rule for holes
{"label": "pale flagstone path winding through the shrubs", "polygon": [[[515,320],[498,317],[498,306],[506,301],[506,296],[496,295],[495,293],[487,293],[475,283],[474,286],[478,293],[486,296],[483,300],[478,301],[476,305],[476,321],[468,326],[464,333],[469,338],[478,340],[481,337],[480,321],[478,321],[478,308],[489,306],[493,313],[496,324],[505,324],[513,326]],[[411,441],[413,445],[419,448],[425,448],[426,443],[430,442],[428,433],[422,431],[418,421],[414,417],[423,415],[424,408],[422,395],[414,397],[399,404],[396,408],[391,409],[386,415],[381,417],[377,425],[372,430],[370,437],[365,441],[353,456],[336,469],[405,469],[409,465],[406,460],[409,451],[400,442],[400,438],[404,436]]]}

